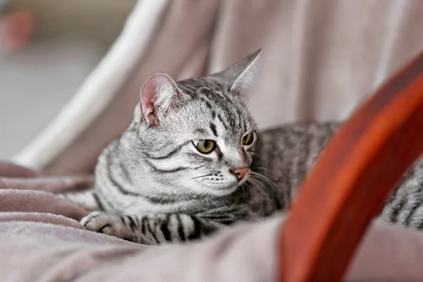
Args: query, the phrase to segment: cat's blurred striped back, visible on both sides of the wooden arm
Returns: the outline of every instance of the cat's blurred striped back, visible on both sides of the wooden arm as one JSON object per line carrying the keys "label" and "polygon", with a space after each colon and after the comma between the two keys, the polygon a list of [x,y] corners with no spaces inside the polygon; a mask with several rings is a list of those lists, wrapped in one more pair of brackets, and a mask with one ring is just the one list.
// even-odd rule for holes
{"label": "cat's blurred striped back, visible on both sides of the wooden arm", "polygon": [[[297,123],[271,128],[259,133],[252,171],[274,183],[266,185],[271,197],[283,207],[292,200],[319,152],[338,127],[338,123]],[[263,183],[264,178],[256,176]],[[254,174],[252,177],[255,177]],[[423,228],[423,157],[421,157],[393,189],[381,210],[381,218],[412,228]]]}

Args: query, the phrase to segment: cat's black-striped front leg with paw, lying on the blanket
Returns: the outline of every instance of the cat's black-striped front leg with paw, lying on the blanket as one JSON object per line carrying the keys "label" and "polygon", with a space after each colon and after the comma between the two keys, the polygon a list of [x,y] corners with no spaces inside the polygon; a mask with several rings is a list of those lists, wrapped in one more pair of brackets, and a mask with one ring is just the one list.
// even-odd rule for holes
{"label": "cat's black-striped front leg with paw, lying on the blanket", "polygon": [[90,231],[145,245],[202,238],[223,225],[188,214],[128,216],[92,212],[81,221]]}

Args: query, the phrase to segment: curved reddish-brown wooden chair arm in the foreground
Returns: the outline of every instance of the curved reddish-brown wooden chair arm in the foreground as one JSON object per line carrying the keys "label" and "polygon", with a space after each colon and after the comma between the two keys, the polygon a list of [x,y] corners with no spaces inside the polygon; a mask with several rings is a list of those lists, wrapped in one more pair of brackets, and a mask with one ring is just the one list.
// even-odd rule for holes
{"label": "curved reddish-brown wooden chair arm in the foreground", "polygon": [[329,140],[280,228],[280,281],[341,281],[369,222],[423,152],[423,54]]}

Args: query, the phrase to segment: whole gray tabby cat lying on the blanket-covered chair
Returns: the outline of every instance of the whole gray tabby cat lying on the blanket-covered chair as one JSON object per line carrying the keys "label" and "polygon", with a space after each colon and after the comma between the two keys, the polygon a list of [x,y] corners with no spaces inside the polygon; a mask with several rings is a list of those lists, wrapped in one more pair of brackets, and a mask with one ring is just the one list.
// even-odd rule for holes
{"label": "whole gray tabby cat lying on the blanket-covered chair", "polygon": [[[205,78],[148,78],[132,123],[99,156],[94,189],[64,195],[94,211],[82,225],[157,245],[202,238],[235,221],[286,209],[337,125],[286,125],[258,138],[240,96],[258,56]],[[382,217],[421,228],[422,183],[419,164]]]}

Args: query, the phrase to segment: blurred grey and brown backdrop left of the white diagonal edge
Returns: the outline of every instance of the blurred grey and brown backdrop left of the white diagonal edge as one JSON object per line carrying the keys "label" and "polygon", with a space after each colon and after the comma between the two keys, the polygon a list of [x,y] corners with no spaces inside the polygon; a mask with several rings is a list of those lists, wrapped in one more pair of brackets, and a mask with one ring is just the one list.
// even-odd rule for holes
{"label": "blurred grey and brown backdrop left of the white diagonal edge", "polygon": [[30,20],[18,15],[15,26],[33,29],[23,46],[9,48],[0,39],[1,159],[18,153],[58,114],[118,37],[135,2],[0,0],[0,28],[20,12]]}

